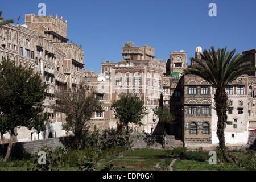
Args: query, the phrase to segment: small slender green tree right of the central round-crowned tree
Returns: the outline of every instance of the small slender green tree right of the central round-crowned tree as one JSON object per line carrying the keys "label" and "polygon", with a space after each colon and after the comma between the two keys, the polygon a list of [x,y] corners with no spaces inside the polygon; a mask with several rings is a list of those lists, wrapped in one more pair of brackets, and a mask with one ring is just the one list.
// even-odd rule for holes
{"label": "small slender green tree right of the central round-crowned tree", "polygon": [[161,126],[162,134],[165,136],[166,133],[166,126],[175,124],[174,122],[174,115],[172,115],[166,106],[162,107],[155,107],[153,110],[156,117],[159,119],[159,124]]}

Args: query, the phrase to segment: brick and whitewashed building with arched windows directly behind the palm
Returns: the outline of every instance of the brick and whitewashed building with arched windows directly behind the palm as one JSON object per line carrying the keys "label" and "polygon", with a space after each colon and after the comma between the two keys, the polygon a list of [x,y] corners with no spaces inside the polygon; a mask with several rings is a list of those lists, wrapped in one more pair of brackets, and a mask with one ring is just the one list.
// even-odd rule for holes
{"label": "brick and whitewashed building with arched windows directly behind the palm", "polygon": [[[195,57],[201,59],[201,47]],[[203,60],[201,60],[203,61]],[[191,61],[191,64],[196,64]],[[247,144],[248,140],[248,75],[242,75],[226,87],[229,96],[228,121],[225,124],[227,144]],[[203,78],[184,76],[184,143],[217,144],[217,114],[214,107],[214,88]]]}

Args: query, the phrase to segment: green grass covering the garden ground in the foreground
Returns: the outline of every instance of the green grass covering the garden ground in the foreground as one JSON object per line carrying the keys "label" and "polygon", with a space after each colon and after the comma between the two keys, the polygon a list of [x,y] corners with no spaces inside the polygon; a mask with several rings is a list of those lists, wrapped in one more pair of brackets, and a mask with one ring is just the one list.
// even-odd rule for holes
{"label": "green grass covering the garden ground in the foreground", "polygon": [[[85,155],[88,151],[69,151],[66,164],[58,168],[60,171],[77,171],[79,167],[76,165],[77,161],[77,152],[82,155]],[[100,160],[97,163],[96,170],[102,170],[106,165],[113,165],[113,169],[120,171],[166,171],[168,166],[172,162],[171,150],[158,150],[158,149],[135,149],[135,150],[125,150],[125,148],[112,148],[106,150],[100,156]],[[198,152],[192,152],[196,156]],[[200,153],[204,154],[204,153]],[[254,152],[254,154],[256,154]],[[207,155],[205,153],[205,155]],[[233,156],[238,158],[247,158],[248,152],[232,152]],[[208,156],[208,155],[207,155]],[[190,160],[191,159],[191,160]],[[195,158],[193,158],[195,159]],[[218,160],[218,158],[217,158]],[[34,161],[31,158],[24,158],[22,160],[10,159],[7,163],[4,163],[0,160],[0,171],[26,171],[31,170],[35,167]],[[237,171],[237,170],[246,170],[245,168],[238,167],[236,164],[224,162],[223,166],[217,162],[216,165],[210,165],[208,161],[198,161],[188,159],[177,159],[174,166],[174,171]]]}

